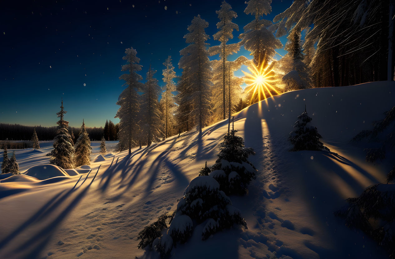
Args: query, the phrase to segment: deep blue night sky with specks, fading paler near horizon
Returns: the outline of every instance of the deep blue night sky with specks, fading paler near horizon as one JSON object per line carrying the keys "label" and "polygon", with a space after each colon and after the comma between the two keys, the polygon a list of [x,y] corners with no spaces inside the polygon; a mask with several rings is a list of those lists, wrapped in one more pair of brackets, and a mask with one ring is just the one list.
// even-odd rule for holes
{"label": "deep blue night sky with specks, fading paler near horizon", "polygon": [[[9,1],[11,2],[11,1]],[[124,64],[124,50],[133,47],[141,59],[145,78],[149,64],[158,70],[162,81],[162,63],[171,55],[176,72],[179,51],[186,46],[184,34],[194,16],[209,22],[206,33],[210,45],[217,31],[216,10],[221,0],[146,0],[146,1],[12,1],[0,9],[0,122],[22,125],[56,125],[56,112],[63,97],[65,119],[79,127],[82,119],[88,127],[100,127],[114,119],[115,104],[123,84],[118,78]],[[228,0],[238,17],[234,39],[252,15],[243,13],[244,0]],[[292,4],[292,0],[273,0],[274,16]],[[134,7],[133,7],[134,5]],[[167,6],[167,10],[165,10]],[[176,13],[178,11],[178,13]],[[280,40],[283,44],[286,38]],[[277,50],[284,55],[284,50]],[[229,59],[245,55],[242,49]],[[280,56],[276,55],[276,59]],[[241,72],[236,75],[242,75]],[[86,84],[84,86],[84,84]]]}

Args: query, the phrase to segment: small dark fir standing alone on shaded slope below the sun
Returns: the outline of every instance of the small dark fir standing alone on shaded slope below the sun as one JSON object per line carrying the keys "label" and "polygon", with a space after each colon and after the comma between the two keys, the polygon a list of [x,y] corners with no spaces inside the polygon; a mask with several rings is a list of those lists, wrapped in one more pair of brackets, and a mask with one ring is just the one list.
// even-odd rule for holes
{"label": "small dark fir standing alone on shaded slope below the sun", "polygon": [[292,131],[289,136],[289,140],[293,145],[290,151],[299,150],[316,150],[316,151],[329,151],[329,148],[325,147],[320,141],[322,136],[318,133],[316,127],[310,125],[312,120],[308,117],[306,112],[299,115],[298,120],[293,125],[296,130]]}

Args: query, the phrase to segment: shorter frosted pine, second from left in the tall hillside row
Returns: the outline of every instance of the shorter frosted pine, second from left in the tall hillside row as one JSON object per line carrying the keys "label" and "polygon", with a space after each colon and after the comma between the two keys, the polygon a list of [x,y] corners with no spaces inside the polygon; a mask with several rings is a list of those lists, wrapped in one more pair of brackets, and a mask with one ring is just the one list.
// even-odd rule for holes
{"label": "shorter frosted pine, second from left in the tall hillside row", "polygon": [[151,69],[147,72],[145,84],[141,87],[143,95],[141,95],[141,142],[150,146],[152,142],[160,140],[163,136],[160,123],[159,95],[162,91],[158,85],[158,80],[154,78],[156,70]]}

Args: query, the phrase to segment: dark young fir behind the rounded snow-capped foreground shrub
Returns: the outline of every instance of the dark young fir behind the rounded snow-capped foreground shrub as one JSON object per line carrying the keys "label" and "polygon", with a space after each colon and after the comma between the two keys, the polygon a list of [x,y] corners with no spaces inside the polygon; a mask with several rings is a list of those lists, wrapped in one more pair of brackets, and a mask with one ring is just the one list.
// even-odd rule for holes
{"label": "dark young fir behind the rounded snow-capped foreground shrub", "polygon": [[224,136],[218,159],[211,166],[210,176],[218,181],[220,189],[226,194],[243,195],[255,178],[256,169],[248,161],[248,156],[255,155],[255,152],[244,146],[243,138],[237,136],[236,132],[232,129]]}

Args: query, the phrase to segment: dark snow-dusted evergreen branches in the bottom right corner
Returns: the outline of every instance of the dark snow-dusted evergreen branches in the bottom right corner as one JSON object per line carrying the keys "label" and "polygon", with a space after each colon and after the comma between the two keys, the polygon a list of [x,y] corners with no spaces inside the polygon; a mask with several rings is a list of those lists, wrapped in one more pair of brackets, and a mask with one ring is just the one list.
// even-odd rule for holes
{"label": "dark snow-dusted evergreen branches in the bottom right corner", "polygon": [[[372,185],[347,202],[335,215],[343,217],[347,226],[371,235],[381,246],[389,248],[391,258],[395,258],[395,184]],[[372,226],[370,219],[380,225]]]}

